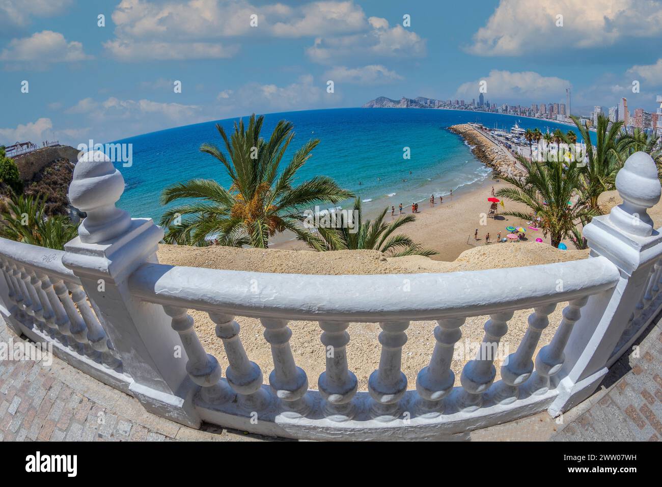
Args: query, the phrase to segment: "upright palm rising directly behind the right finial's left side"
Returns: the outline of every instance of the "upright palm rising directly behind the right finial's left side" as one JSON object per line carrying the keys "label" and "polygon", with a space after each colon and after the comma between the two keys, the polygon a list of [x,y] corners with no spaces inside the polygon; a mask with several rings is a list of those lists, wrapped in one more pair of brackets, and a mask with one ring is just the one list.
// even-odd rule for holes
{"label": "upright palm rising directly behind the right finial's left side", "polygon": [[582,125],[574,115],[571,118],[587,145],[586,152],[589,158],[589,162],[580,168],[579,190],[583,199],[588,201],[593,209],[599,211],[598,196],[603,191],[616,189],[616,174],[625,162],[620,160],[618,148],[618,138],[623,123],[612,123],[600,113],[596,125],[596,145],[593,148],[589,127]]}

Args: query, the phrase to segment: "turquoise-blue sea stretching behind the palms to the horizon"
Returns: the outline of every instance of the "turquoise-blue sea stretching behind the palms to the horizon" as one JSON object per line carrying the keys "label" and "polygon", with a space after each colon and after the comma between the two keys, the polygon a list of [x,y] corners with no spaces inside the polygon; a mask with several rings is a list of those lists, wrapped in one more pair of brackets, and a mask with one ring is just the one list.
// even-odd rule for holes
{"label": "turquoise-blue sea stretching behind the palms to the horizon", "polygon": [[[320,139],[312,158],[299,170],[299,180],[330,176],[361,197],[367,211],[397,207],[399,203],[406,207],[432,193],[446,195],[451,189],[479,184],[489,176],[491,171],[471,154],[463,139],[447,130],[451,125],[479,122],[509,131],[518,123],[524,129],[572,129],[496,113],[346,108],[265,115],[264,138],[281,119],[293,122],[296,133],[285,161],[308,139]],[[222,148],[215,125],[220,123],[229,132],[236,120],[210,121],[115,141],[133,144],[132,166],[117,164],[126,182],[118,206],[133,217],[152,217],[158,223],[164,211],[159,196],[166,186],[209,178],[227,188],[230,180],[220,162],[199,152],[199,147],[212,142]],[[410,149],[408,160],[403,158],[405,147]]]}

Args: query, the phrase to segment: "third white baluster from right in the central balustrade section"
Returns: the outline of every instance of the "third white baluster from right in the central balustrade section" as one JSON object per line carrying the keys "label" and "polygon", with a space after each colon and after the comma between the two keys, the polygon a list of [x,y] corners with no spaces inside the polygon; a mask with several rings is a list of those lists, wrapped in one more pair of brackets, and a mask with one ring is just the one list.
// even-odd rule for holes
{"label": "third white baluster from right in the central balustrade section", "polygon": [[483,393],[489,389],[496,377],[494,361],[501,337],[508,331],[508,320],[513,311],[495,313],[485,323],[485,335],[476,358],[462,369],[460,382],[463,391],[459,394],[457,406],[463,411],[475,411],[483,405]]}

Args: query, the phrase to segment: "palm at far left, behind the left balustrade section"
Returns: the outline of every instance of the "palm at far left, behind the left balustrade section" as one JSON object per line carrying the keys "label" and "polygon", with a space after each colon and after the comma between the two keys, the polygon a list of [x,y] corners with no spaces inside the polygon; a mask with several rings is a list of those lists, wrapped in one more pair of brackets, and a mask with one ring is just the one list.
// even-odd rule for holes
{"label": "palm at far left, behind the left balustrade section", "polygon": [[64,250],[64,244],[78,235],[78,225],[68,217],[46,217],[46,201],[42,195],[12,195],[7,206],[0,215],[0,237]]}

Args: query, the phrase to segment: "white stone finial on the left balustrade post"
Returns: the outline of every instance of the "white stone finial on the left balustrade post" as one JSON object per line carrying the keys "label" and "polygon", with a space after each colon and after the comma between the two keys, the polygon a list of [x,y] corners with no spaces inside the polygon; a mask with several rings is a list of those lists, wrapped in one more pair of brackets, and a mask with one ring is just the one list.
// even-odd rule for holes
{"label": "white stone finial on the left balustrade post", "polygon": [[83,243],[109,241],[126,232],[131,217],[115,207],[124,192],[124,178],[100,150],[82,154],[69,186],[71,204],[87,213],[78,235]]}

